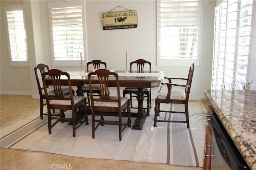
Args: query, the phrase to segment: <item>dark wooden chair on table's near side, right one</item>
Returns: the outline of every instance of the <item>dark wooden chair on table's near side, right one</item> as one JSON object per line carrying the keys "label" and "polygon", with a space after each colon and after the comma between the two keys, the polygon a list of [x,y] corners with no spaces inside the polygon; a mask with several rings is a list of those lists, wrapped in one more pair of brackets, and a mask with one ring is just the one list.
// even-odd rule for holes
{"label": "dark wooden chair on table's near side, right one", "polygon": [[[94,76],[96,75],[96,76]],[[130,100],[126,97],[120,96],[120,86],[118,74],[110,72],[107,69],[98,69],[95,72],[90,72],[88,75],[90,87],[91,113],[92,113],[92,138],[95,137],[95,131],[99,125],[114,124],[119,126],[119,140],[122,140],[122,132],[128,126],[131,127],[130,118]],[[94,98],[92,96],[92,83],[97,83],[100,87],[100,97]],[[114,84],[112,93],[117,96],[111,96],[109,90],[109,83]],[[95,117],[99,115],[100,118]],[[117,120],[108,119],[104,116],[116,116]],[[128,117],[126,123],[122,123],[122,117]],[[98,124],[95,126],[95,122]]]}

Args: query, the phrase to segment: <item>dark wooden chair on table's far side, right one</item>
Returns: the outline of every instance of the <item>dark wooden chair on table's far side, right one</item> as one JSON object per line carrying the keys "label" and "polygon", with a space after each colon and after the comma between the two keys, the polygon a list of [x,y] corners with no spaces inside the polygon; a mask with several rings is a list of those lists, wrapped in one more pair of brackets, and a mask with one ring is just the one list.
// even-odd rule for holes
{"label": "dark wooden chair on table's far side, right one", "polygon": [[[130,72],[132,72],[132,64],[136,64],[137,66],[137,72],[144,72],[144,65],[148,64],[149,65],[149,71],[151,72],[151,63],[149,61],[146,61],[144,59],[138,59],[136,61],[132,61],[130,63]],[[143,92],[145,93],[145,96],[147,98],[147,116],[149,116],[149,111],[151,108],[151,88],[143,88]],[[132,105],[132,97],[137,97],[138,88],[131,88],[131,87],[126,87],[123,90],[123,96],[126,96],[126,94],[130,95],[130,101],[131,101],[131,108],[138,108],[138,107],[133,107]]]}

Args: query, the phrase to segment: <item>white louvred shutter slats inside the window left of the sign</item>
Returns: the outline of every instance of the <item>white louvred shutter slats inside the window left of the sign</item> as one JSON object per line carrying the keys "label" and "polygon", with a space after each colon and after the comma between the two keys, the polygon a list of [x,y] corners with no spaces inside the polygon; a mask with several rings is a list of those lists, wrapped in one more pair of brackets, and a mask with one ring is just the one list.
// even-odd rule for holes
{"label": "white louvred shutter slats inside the window left of the sign", "polygon": [[52,39],[55,60],[80,60],[84,53],[82,7],[53,8]]}

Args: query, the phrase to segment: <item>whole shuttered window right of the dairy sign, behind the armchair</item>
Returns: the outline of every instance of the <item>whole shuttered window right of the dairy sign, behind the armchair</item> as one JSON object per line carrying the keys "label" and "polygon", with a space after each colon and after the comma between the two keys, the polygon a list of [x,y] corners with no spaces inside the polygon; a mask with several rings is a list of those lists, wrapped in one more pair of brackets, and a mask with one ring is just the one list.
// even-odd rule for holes
{"label": "whole shuttered window right of the dairy sign, behind the armchair", "polygon": [[158,65],[200,63],[200,1],[158,1]]}

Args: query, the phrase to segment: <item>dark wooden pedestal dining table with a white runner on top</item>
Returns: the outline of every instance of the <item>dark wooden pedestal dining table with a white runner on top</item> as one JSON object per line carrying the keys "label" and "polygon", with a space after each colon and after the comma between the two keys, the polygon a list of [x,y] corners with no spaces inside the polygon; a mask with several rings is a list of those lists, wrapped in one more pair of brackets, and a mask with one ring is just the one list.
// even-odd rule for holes
{"label": "dark wooden pedestal dining table with a white runner on top", "polygon": [[[136,117],[135,123],[132,127],[132,129],[138,129],[141,130],[144,124],[144,121],[147,117],[146,111],[143,109],[143,100],[144,100],[144,92],[143,88],[154,88],[159,87],[164,73],[162,71],[144,71],[139,73],[137,71],[135,72],[129,72],[128,74],[125,74],[124,71],[115,71],[120,74],[118,76],[120,87],[135,87],[138,88],[137,92],[137,100],[138,100],[138,112],[131,113],[132,117]],[[70,74],[70,80],[72,86],[77,86],[76,94],[78,96],[84,96],[84,91],[82,90],[82,86],[85,84],[88,84],[88,73],[83,72],[79,74],[79,71],[68,71]],[[143,74],[142,74],[143,73]],[[122,75],[121,75],[122,74]],[[50,79],[49,79],[50,80]],[[92,83],[97,84],[98,83],[98,77],[92,76],[91,78]],[[68,85],[68,81],[66,78],[63,78],[61,80],[61,84],[63,86]],[[46,84],[51,85],[51,82],[47,80],[46,78]],[[116,86],[116,80],[115,78],[111,77],[109,78],[109,86],[115,87]]]}

